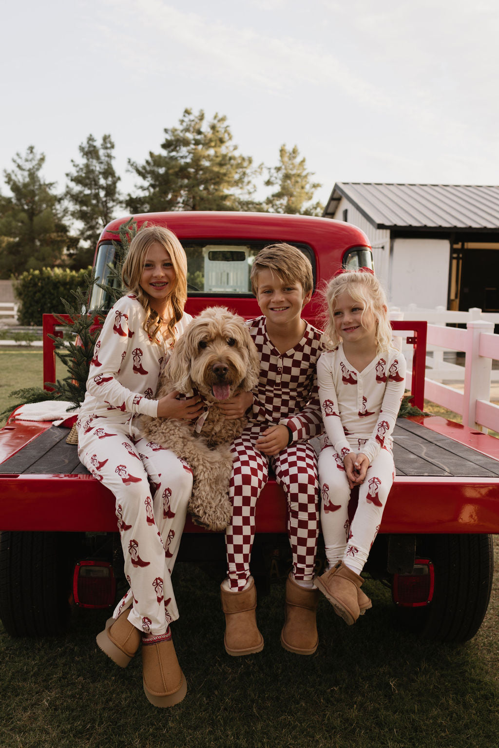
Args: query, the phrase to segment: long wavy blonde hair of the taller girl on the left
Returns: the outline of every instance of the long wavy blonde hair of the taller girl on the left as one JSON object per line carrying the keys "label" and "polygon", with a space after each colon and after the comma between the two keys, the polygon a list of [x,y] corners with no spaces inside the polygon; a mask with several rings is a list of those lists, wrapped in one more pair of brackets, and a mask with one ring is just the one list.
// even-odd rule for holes
{"label": "long wavy blonde hair of the taller girl on the left", "polygon": [[[141,289],[140,282],[144,272],[144,262],[151,245],[158,242],[171,257],[175,271],[174,288],[168,298],[170,309],[169,319],[161,319],[156,310],[150,306],[150,298]],[[126,286],[141,302],[146,313],[144,330],[155,343],[162,340],[175,342],[175,325],[182,318],[183,309],[187,301],[187,258],[177,236],[162,226],[146,226],[139,230],[132,241],[123,263],[121,272],[123,285]]]}

